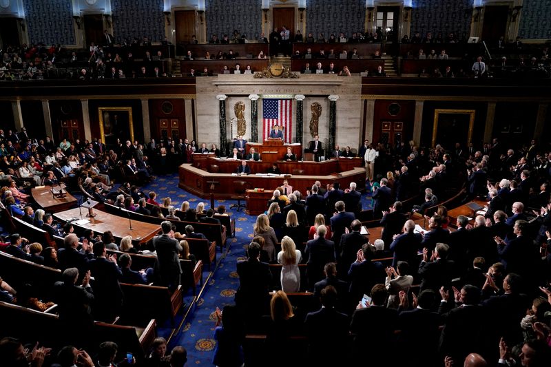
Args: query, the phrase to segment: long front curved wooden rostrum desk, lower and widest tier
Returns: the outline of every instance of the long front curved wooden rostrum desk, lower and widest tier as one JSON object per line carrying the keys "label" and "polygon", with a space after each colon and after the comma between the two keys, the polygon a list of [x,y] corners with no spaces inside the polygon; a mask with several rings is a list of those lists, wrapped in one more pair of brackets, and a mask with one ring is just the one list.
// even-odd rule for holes
{"label": "long front curved wooden rostrum desk, lower and widest tier", "polygon": [[[212,158],[211,158],[212,159]],[[215,160],[217,161],[217,160]],[[231,167],[237,167],[236,161],[233,161],[231,164]],[[251,162],[251,163],[259,163],[259,162]],[[262,162],[260,162],[262,163]],[[282,163],[282,165],[286,164],[287,162]],[[305,163],[312,163],[313,165],[318,166],[312,166],[313,169],[315,167],[323,167],[324,164],[332,165],[331,167],[337,168],[339,167],[340,160],[329,160],[326,162],[298,162],[295,164],[305,164]],[[263,163],[264,165],[271,165],[271,163]],[[328,166],[328,167],[330,167]],[[193,193],[196,196],[199,196],[201,198],[209,198],[210,196],[210,183],[211,181],[216,182],[214,194],[216,195],[216,198],[220,199],[229,199],[232,195],[235,194],[235,189],[233,188],[233,182],[234,181],[245,181],[247,182],[247,186],[249,188],[256,188],[256,187],[262,187],[264,189],[275,189],[275,187],[281,186],[284,180],[284,176],[256,176],[256,175],[249,175],[249,176],[233,176],[231,174],[225,174],[225,173],[211,173],[204,171],[202,169],[198,169],[197,167],[193,167],[189,163],[185,163],[183,165],[180,165],[180,168],[178,169],[179,175],[180,175],[180,182],[178,183],[178,187],[181,189],[185,189],[189,191],[190,193]],[[320,169],[317,170],[318,172]],[[222,171],[222,167],[220,167],[220,172]],[[306,175],[293,175],[289,178],[289,184],[293,186],[294,189],[299,190],[301,193],[305,193],[306,190],[311,189],[313,183],[316,180],[320,180],[322,185],[326,185],[333,182],[339,182],[341,187],[349,187],[350,182],[359,182],[360,185],[358,185],[358,188],[362,188],[361,182],[364,182],[365,180],[365,169],[364,167],[353,167],[350,170],[344,171],[335,171],[340,172],[339,176],[331,175],[331,174],[315,174],[313,173],[311,176]],[[266,209],[264,209],[266,210]]]}

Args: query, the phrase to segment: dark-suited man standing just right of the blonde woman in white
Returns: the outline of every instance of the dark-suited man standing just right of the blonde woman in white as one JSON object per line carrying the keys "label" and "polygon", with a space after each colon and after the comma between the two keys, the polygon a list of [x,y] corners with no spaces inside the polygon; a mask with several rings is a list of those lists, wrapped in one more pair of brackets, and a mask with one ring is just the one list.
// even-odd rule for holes
{"label": "dark-suited man standing just right of the blonde woman in white", "polygon": [[335,261],[335,243],[326,240],[327,229],[324,225],[318,226],[316,230],[318,238],[306,242],[304,249],[304,261],[308,272],[309,289],[313,289],[316,282],[324,278],[323,270],[325,264]]}

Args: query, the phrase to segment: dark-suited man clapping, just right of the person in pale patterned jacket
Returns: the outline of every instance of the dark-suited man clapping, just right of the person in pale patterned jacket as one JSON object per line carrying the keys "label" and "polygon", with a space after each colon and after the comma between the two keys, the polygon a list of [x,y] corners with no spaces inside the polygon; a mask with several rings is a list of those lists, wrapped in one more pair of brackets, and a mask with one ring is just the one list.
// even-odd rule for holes
{"label": "dark-suited man clapping, just right of the person in pale patterned jacket", "polygon": [[450,247],[445,243],[438,243],[428,262],[428,249],[423,249],[423,260],[419,264],[419,275],[422,277],[421,290],[432,289],[438,291],[441,286],[444,289],[451,288],[453,261],[446,260]]}

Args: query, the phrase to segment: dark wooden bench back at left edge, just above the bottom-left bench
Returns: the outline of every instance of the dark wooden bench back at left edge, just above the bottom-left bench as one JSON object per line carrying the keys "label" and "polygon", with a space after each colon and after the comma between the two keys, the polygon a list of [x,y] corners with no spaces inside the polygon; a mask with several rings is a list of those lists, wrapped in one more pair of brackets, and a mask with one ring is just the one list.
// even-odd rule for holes
{"label": "dark wooden bench back at left edge, just above the bottom-left bench", "polygon": [[37,291],[37,296],[45,302],[52,300],[54,283],[61,281],[61,270],[14,258],[1,251],[0,269],[0,275],[14,289],[21,289],[27,283],[32,284]]}

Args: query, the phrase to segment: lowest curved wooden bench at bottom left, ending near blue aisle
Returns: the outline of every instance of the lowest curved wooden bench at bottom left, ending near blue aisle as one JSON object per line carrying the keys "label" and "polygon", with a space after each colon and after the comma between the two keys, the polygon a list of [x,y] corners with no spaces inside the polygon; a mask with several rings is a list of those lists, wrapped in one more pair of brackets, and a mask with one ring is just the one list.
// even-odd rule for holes
{"label": "lowest curved wooden bench at bottom left, ending near blue aisle", "polygon": [[[48,348],[61,348],[63,340],[67,339],[67,335],[63,335],[59,317],[52,313],[34,311],[6,302],[0,302],[0,313],[3,317],[0,337],[17,337],[24,344],[38,342]],[[145,359],[145,353],[155,337],[156,321],[154,319],[148,320],[143,328],[94,322],[94,333],[90,336],[90,345],[96,348],[101,342],[110,340],[118,346],[117,359],[125,358],[126,353],[129,352],[136,357],[136,361],[141,362]],[[90,350],[91,353],[96,351]]]}

